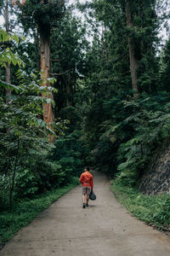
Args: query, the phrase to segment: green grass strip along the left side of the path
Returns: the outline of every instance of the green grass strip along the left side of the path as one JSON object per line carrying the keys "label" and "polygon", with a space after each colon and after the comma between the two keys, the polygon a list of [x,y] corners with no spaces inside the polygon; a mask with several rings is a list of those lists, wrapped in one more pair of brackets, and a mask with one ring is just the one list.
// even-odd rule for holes
{"label": "green grass strip along the left side of the path", "polygon": [[0,244],[8,241],[20,228],[31,223],[31,220],[39,212],[48,208],[60,196],[76,186],[77,183],[75,182],[62,189],[54,189],[38,195],[35,199],[24,199],[20,202],[15,202],[12,212],[0,212]]}

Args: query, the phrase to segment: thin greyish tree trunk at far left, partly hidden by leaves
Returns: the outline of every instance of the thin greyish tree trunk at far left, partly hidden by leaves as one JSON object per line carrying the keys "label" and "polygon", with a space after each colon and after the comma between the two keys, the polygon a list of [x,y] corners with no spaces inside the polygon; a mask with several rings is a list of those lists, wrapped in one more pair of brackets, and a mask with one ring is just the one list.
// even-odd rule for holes
{"label": "thin greyish tree trunk at far left, partly hidden by leaves", "polygon": [[[8,0],[5,1],[5,7],[4,7],[4,20],[5,20],[5,29],[6,32],[9,32],[9,15],[8,15]],[[8,84],[11,84],[11,73],[10,73],[10,64],[6,64],[7,67],[5,68],[5,81]],[[6,91],[7,96],[7,102],[8,102],[8,96],[11,95],[11,90]]]}

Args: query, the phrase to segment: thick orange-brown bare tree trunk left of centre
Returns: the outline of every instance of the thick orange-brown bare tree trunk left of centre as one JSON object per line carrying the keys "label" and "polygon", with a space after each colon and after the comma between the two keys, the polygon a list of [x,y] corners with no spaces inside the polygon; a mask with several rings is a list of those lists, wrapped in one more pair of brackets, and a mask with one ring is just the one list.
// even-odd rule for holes
{"label": "thick orange-brown bare tree trunk left of centre", "polygon": [[[42,86],[48,86],[47,79],[49,78],[50,69],[50,49],[49,49],[49,34],[50,32],[40,32],[41,39],[41,71],[42,71]],[[44,95],[42,95],[44,96]],[[48,98],[53,98],[52,92],[48,94]],[[43,106],[43,120],[47,124],[54,123],[54,113],[52,103],[44,103]],[[51,126],[49,125],[51,128]],[[50,143],[54,142],[54,136],[49,137]]]}

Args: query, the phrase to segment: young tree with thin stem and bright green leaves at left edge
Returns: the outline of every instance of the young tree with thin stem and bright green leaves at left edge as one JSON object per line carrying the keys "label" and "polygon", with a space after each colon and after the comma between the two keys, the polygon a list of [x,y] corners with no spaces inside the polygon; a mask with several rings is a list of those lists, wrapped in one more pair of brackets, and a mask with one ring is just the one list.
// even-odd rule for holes
{"label": "young tree with thin stem and bright green leaves at left edge", "polygon": [[[11,36],[1,29],[0,45],[8,41],[17,43],[19,38],[16,35]],[[14,66],[21,65],[22,61],[17,55],[14,55],[12,49],[3,49],[0,46],[0,53],[0,67],[5,67],[6,63],[13,63]],[[42,119],[37,118],[38,114],[42,113],[41,104],[48,102],[47,97],[38,96],[38,94],[40,92],[47,94],[47,87],[42,90],[40,85],[42,81],[38,80],[40,83],[38,84],[37,76],[33,74],[31,78],[26,78],[21,71],[18,71],[17,79],[20,81],[17,86],[0,80],[1,91],[3,89],[13,91],[13,95],[8,96],[10,104],[6,104],[6,96],[0,98],[0,157],[3,174],[8,176],[10,209],[12,207],[14,180],[19,166],[20,148],[26,150],[26,148],[33,147],[33,143],[38,140],[37,134],[39,132],[41,132],[42,137],[54,134],[54,131],[50,130]],[[46,132],[42,131],[43,127]],[[39,138],[39,143],[40,141],[41,138]]]}

